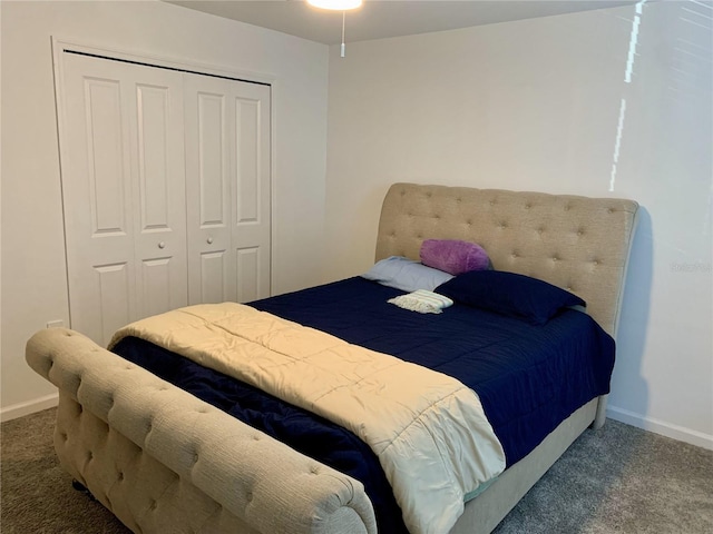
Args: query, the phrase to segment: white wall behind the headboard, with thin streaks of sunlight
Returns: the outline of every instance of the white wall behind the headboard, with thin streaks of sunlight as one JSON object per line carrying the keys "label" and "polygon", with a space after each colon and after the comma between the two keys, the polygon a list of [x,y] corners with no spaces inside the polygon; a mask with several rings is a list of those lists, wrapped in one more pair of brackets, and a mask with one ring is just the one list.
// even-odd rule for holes
{"label": "white wall behind the headboard, with thin streaks of sunlight", "polygon": [[641,11],[332,47],[324,274],[371,265],[398,180],[636,199],[609,415],[713,448],[711,13]]}

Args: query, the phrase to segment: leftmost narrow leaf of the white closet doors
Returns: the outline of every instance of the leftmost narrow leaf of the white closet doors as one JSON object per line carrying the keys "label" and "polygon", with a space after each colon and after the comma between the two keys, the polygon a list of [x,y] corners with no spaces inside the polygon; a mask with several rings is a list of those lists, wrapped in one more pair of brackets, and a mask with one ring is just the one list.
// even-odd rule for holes
{"label": "leftmost narrow leaf of the white closet doors", "polygon": [[106,344],[136,314],[126,69],[64,62],[62,199],[71,327]]}

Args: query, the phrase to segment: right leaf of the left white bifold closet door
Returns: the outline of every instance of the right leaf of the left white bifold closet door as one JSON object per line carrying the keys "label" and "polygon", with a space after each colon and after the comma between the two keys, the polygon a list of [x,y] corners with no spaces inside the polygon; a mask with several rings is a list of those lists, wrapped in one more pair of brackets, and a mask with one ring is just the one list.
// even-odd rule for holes
{"label": "right leaf of the left white bifold closet door", "polygon": [[146,68],[133,90],[137,102],[135,253],[138,316],[186,306],[186,191],[183,78]]}

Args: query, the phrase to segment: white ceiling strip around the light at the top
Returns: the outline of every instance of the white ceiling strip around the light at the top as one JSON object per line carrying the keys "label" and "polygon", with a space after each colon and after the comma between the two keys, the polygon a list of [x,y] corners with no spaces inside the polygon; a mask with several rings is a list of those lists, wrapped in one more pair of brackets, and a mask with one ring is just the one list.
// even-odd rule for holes
{"label": "white ceiling strip around the light at the top", "polygon": [[[325,44],[341,42],[342,12],[302,0],[165,0]],[[364,41],[470,26],[634,4],[636,0],[365,0],[346,13],[346,41]]]}

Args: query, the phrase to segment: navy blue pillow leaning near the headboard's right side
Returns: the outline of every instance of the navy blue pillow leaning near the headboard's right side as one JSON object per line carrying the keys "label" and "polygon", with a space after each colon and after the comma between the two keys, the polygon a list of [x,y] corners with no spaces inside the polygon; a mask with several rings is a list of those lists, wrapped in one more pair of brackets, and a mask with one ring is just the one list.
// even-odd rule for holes
{"label": "navy blue pillow leaning near the headboard's right side", "polygon": [[582,298],[547,281],[504,270],[463,273],[433,290],[457,303],[533,325],[544,325],[568,306],[586,306]]}

